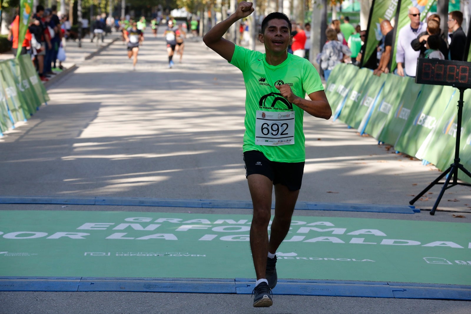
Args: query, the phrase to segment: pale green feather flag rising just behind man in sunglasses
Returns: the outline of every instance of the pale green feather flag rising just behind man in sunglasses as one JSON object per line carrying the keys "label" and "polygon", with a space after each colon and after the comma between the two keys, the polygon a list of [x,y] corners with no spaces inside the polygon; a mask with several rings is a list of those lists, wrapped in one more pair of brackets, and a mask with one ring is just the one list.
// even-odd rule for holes
{"label": "pale green feather flag rising just behind man in sunglasses", "polygon": [[429,13],[430,8],[434,3],[435,0],[401,0],[398,23],[394,26],[396,28],[396,38],[393,44],[394,49],[391,58],[391,72],[393,72],[394,69],[396,69],[396,66],[398,65],[396,63],[396,52],[398,46],[397,43],[399,38],[399,31],[401,30],[401,28],[411,23],[411,20],[409,18],[409,8],[418,8],[420,12],[420,20],[425,21],[427,14]]}

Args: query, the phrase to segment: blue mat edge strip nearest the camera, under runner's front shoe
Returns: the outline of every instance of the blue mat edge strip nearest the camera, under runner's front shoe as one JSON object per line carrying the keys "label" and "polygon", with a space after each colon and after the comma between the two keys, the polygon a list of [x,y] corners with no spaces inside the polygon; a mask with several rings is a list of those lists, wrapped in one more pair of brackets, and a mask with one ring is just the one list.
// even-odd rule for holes
{"label": "blue mat edge strip nearest the camera, under runner's front shoe", "polygon": [[[0,291],[174,292],[252,294],[248,278],[0,276]],[[275,295],[471,300],[471,285],[279,279]]]}

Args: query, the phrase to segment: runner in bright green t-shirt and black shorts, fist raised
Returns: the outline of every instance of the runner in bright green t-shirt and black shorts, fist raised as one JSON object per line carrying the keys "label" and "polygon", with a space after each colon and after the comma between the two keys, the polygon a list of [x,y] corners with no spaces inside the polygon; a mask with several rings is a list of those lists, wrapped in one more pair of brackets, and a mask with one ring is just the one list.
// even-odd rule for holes
{"label": "runner in bright green t-shirt and black shorts, fist raised", "polygon": [[[232,24],[253,11],[251,2],[242,1],[229,18],[206,33],[203,41],[244,74],[243,151],[253,202],[250,246],[257,276],[253,306],[267,307],[273,304],[270,294],[277,282],[275,253],[290,228],[304,170],[303,113],[329,119],[332,110],[314,66],[307,59],[288,54],[291,23],[283,13],[271,13],[262,21],[259,40],[265,45],[265,54],[223,38]],[[273,185],[275,217],[268,240]]]}

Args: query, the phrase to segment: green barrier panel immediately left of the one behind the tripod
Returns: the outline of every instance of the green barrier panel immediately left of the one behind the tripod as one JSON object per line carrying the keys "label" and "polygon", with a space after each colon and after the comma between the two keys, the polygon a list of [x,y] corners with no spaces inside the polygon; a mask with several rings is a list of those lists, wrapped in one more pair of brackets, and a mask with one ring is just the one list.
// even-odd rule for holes
{"label": "green barrier panel immediately left of the one behind the tripod", "polygon": [[[394,145],[394,148],[399,152],[415,156],[425,138],[437,126],[437,121],[450,102],[454,92],[453,89],[436,85],[430,86],[433,89],[425,101],[415,102],[406,126]],[[422,94],[427,96],[428,93],[422,90]]]}

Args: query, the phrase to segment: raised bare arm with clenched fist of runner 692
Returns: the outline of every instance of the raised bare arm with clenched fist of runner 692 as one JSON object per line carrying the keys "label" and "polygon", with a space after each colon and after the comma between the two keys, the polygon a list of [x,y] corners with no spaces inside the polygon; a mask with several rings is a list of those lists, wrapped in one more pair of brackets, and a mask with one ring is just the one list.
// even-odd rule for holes
{"label": "raised bare arm with clenched fist of runner 692", "polygon": [[242,1],[239,3],[239,6],[231,16],[221,23],[216,24],[204,35],[203,41],[206,46],[230,62],[234,55],[235,44],[232,41],[224,39],[223,36],[232,24],[241,18],[251,15],[253,11],[252,2]]}

